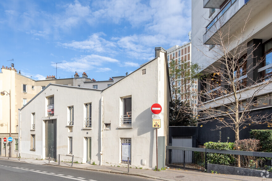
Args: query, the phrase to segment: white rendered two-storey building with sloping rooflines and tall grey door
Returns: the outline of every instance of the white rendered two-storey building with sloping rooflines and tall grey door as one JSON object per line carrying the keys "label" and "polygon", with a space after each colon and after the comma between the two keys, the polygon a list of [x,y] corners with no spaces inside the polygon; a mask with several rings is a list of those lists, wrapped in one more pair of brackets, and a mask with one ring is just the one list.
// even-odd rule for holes
{"label": "white rendered two-storey building with sloping rooflines and tall grey door", "polygon": [[56,160],[60,154],[61,161],[71,161],[74,155],[79,163],[154,168],[150,107],[159,103],[158,164],[164,167],[170,85],[166,51],[156,47],[155,57],[103,90],[46,86],[20,110],[21,157]]}

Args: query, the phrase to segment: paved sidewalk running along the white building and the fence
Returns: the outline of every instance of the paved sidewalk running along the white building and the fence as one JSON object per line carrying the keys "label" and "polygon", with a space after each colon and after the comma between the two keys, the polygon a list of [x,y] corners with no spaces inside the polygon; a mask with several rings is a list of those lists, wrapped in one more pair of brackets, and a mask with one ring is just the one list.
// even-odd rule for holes
{"label": "paved sidewalk running along the white building and the fence", "polygon": [[[0,159],[7,160],[8,157],[0,156]],[[10,161],[19,161],[18,158],[10,158]],[[43,164],[43,165],[51,165],[58,167],[69,167],[71,168],[72,163],[67,162],[58,162],[50,161],[48,164],[48,160],[38,160],[38,159],[20,159],[20,162],[33,163],[33,164]],[[153,171],[153,170],[145,170],[145,169],[136,169],[130,168],[130,172],[128,173],[127,168],[125,167],[114,167],[114,166],[104,166],[104,165],[90,165],[90,164],[80,164],[73,163],[72,168],[77,169],[85,169],[91,171],[103,171],[108,173],[116,173],[116,174],[126,174],[126,175],[135,175],[141,177],[147,177],[158,180],[186,180],[186,181],[195,181],[195,180],[272,180],[262,177],[250,177],[250,176],[238,176],[238,175],[225,175],[225,174],[211,174],[204,173],[201,171],[188,171],[188,170],[177,170],[177,169],[166,169],[163,171]]]}

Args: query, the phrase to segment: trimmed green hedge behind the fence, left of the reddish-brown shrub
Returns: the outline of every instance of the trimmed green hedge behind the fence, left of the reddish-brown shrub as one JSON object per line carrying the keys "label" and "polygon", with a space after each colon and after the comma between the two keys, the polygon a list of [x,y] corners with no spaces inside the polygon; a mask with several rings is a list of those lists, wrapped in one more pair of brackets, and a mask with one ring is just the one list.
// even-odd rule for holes
{"label": "trimmed green hedge behind the fence, left of the reddish-brown shrub", "polygon": [[[233,150],[234,143],[207,142],[204,144],[208,149],[216,150]],[[207,162],[214,164],[232,165],[234,163],[233,155],[207,153]]]}

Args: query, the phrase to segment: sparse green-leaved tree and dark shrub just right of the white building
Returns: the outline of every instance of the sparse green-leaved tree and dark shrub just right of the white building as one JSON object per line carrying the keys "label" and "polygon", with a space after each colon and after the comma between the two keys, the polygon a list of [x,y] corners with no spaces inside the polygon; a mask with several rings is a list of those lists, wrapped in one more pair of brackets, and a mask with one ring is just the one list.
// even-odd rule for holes
{"label": "sparse green-leaved tree and dark shrub just right of the white building", "polygon": [[175,61],[169,63],[170,86],[172,101],[170,103],[170,125],[195,126],[194,107],[197,100],[197,78],[200,67],[190,61]]}

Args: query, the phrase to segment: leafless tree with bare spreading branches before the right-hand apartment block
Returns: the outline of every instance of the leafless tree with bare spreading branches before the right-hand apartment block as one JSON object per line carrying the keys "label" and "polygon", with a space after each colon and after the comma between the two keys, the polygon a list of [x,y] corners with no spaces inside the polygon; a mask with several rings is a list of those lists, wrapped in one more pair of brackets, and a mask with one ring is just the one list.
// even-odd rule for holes
{"label": "leafless tree with bare spreading branches before the right-hand apartment block", "polygon": [[[263,58],[254,56],[254,51],[260,45],[248,44],[253,33],[253,30],[247,30],[249,16],[245,19],[245,24],[236,31],[232,30],[231,24],[222,26],[222,22],[218,21],[213,24],[213,29],[208,30],[209,38],[214,44],[209,50],[212,56],[200,50],[214,63],[206,68],[206,74],[202,76],[202,90],[198,94],[201,100],[198,122],[217,120],[216,129],[229,127],[235,132],[235,140],[239,140],[241,129],[269,119],[269,113],[258,114],[256,108],[266,105],[267,98],[260,98],[258,95],[265,92],[271,76],[249,76],[263,65]],[[209,45],[203,46],[210,48]],[[252,58],[257,58],[258,61],[250,63],[249,59]]]}

